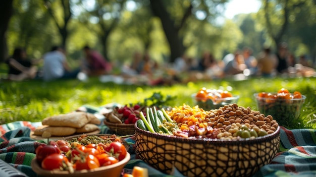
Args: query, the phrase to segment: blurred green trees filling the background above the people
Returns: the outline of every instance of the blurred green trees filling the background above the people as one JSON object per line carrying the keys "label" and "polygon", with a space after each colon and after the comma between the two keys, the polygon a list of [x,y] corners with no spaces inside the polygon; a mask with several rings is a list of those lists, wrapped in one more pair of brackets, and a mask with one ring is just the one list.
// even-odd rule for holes
{"label": "blurred green trees filling the background above the people", "polygon": [[[0,61],[17,46],[40,58],[51,45],[64,45],[76,61],[84,45],[107,60],[129,62],[136,51],[157,62],[193,58],[207,50],[217,60],[249,46],[259,53],[287,42],[296,56],[316,57],[316,2],[262,0],[257,13],[219,23],[225,0],[20,0],[2,1]],[[10,4],[11,3],[11,4]],[[241,2],[242,3],[242,2]],[[12,10],[12,11],[11,11]],[[7,24],[7,25],[6,25]]]}

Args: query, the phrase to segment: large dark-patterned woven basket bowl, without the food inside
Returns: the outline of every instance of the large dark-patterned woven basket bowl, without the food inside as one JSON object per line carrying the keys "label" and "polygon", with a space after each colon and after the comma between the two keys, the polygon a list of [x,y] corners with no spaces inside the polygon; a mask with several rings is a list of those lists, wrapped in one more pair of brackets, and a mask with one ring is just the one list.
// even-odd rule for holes
{"label": "large dark-patterned woven basket bowl, without the food inside", "polygon": [[252,140],[185,139],[153,134],[135,125],[136,154],[152,167],[185,176],[251,176],[275,157],[280,127]]}

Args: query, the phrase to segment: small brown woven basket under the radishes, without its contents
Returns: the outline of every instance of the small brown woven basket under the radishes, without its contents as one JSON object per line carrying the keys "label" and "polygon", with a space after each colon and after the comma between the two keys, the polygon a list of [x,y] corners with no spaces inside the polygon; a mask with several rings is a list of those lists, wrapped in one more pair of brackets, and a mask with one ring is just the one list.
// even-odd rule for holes
{"label": "small brown woven basket under the radishes, without its contents", "polygon": [[104,125],[108,126],[116,135],[133,135],[135,134],[134,124],[115,124],[104,120]]}

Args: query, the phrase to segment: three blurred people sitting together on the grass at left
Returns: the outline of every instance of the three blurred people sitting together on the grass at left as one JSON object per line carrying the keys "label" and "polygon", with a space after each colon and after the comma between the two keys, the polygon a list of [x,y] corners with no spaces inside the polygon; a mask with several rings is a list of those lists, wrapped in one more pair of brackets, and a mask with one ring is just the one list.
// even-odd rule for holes
{"label": "three blurred people sitting together on the grass at left", "polygon": [[[22,81],[25,79],[42,79],[51,81],[56,79],[74,79],[79,73],[87,76],[109,74],[112,65],[104,57],[89,46],[83,47],[84,60],[80,67],[71,69],[66,60],[66,52],[61,46],[53,46],[46,52],[42,60],[29,60],[23,48],[15,48],[13,55],[6,61],[9,66],[8,79]],[[42,62],[42,68],[36,67]]]}

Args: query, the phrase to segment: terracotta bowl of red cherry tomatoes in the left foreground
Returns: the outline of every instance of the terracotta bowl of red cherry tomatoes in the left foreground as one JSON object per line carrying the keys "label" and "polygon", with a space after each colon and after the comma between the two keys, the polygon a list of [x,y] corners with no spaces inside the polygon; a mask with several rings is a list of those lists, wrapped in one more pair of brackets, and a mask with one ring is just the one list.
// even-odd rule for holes
{"label": "terracotta bowl of red cherry tomatoes in the left foreground", "polygon": [[130,154],[121,139],[105,134],[49,141],[38,146],[35,153],[31,167],[38,176],[111,174],[119,177],[130,160]]}

